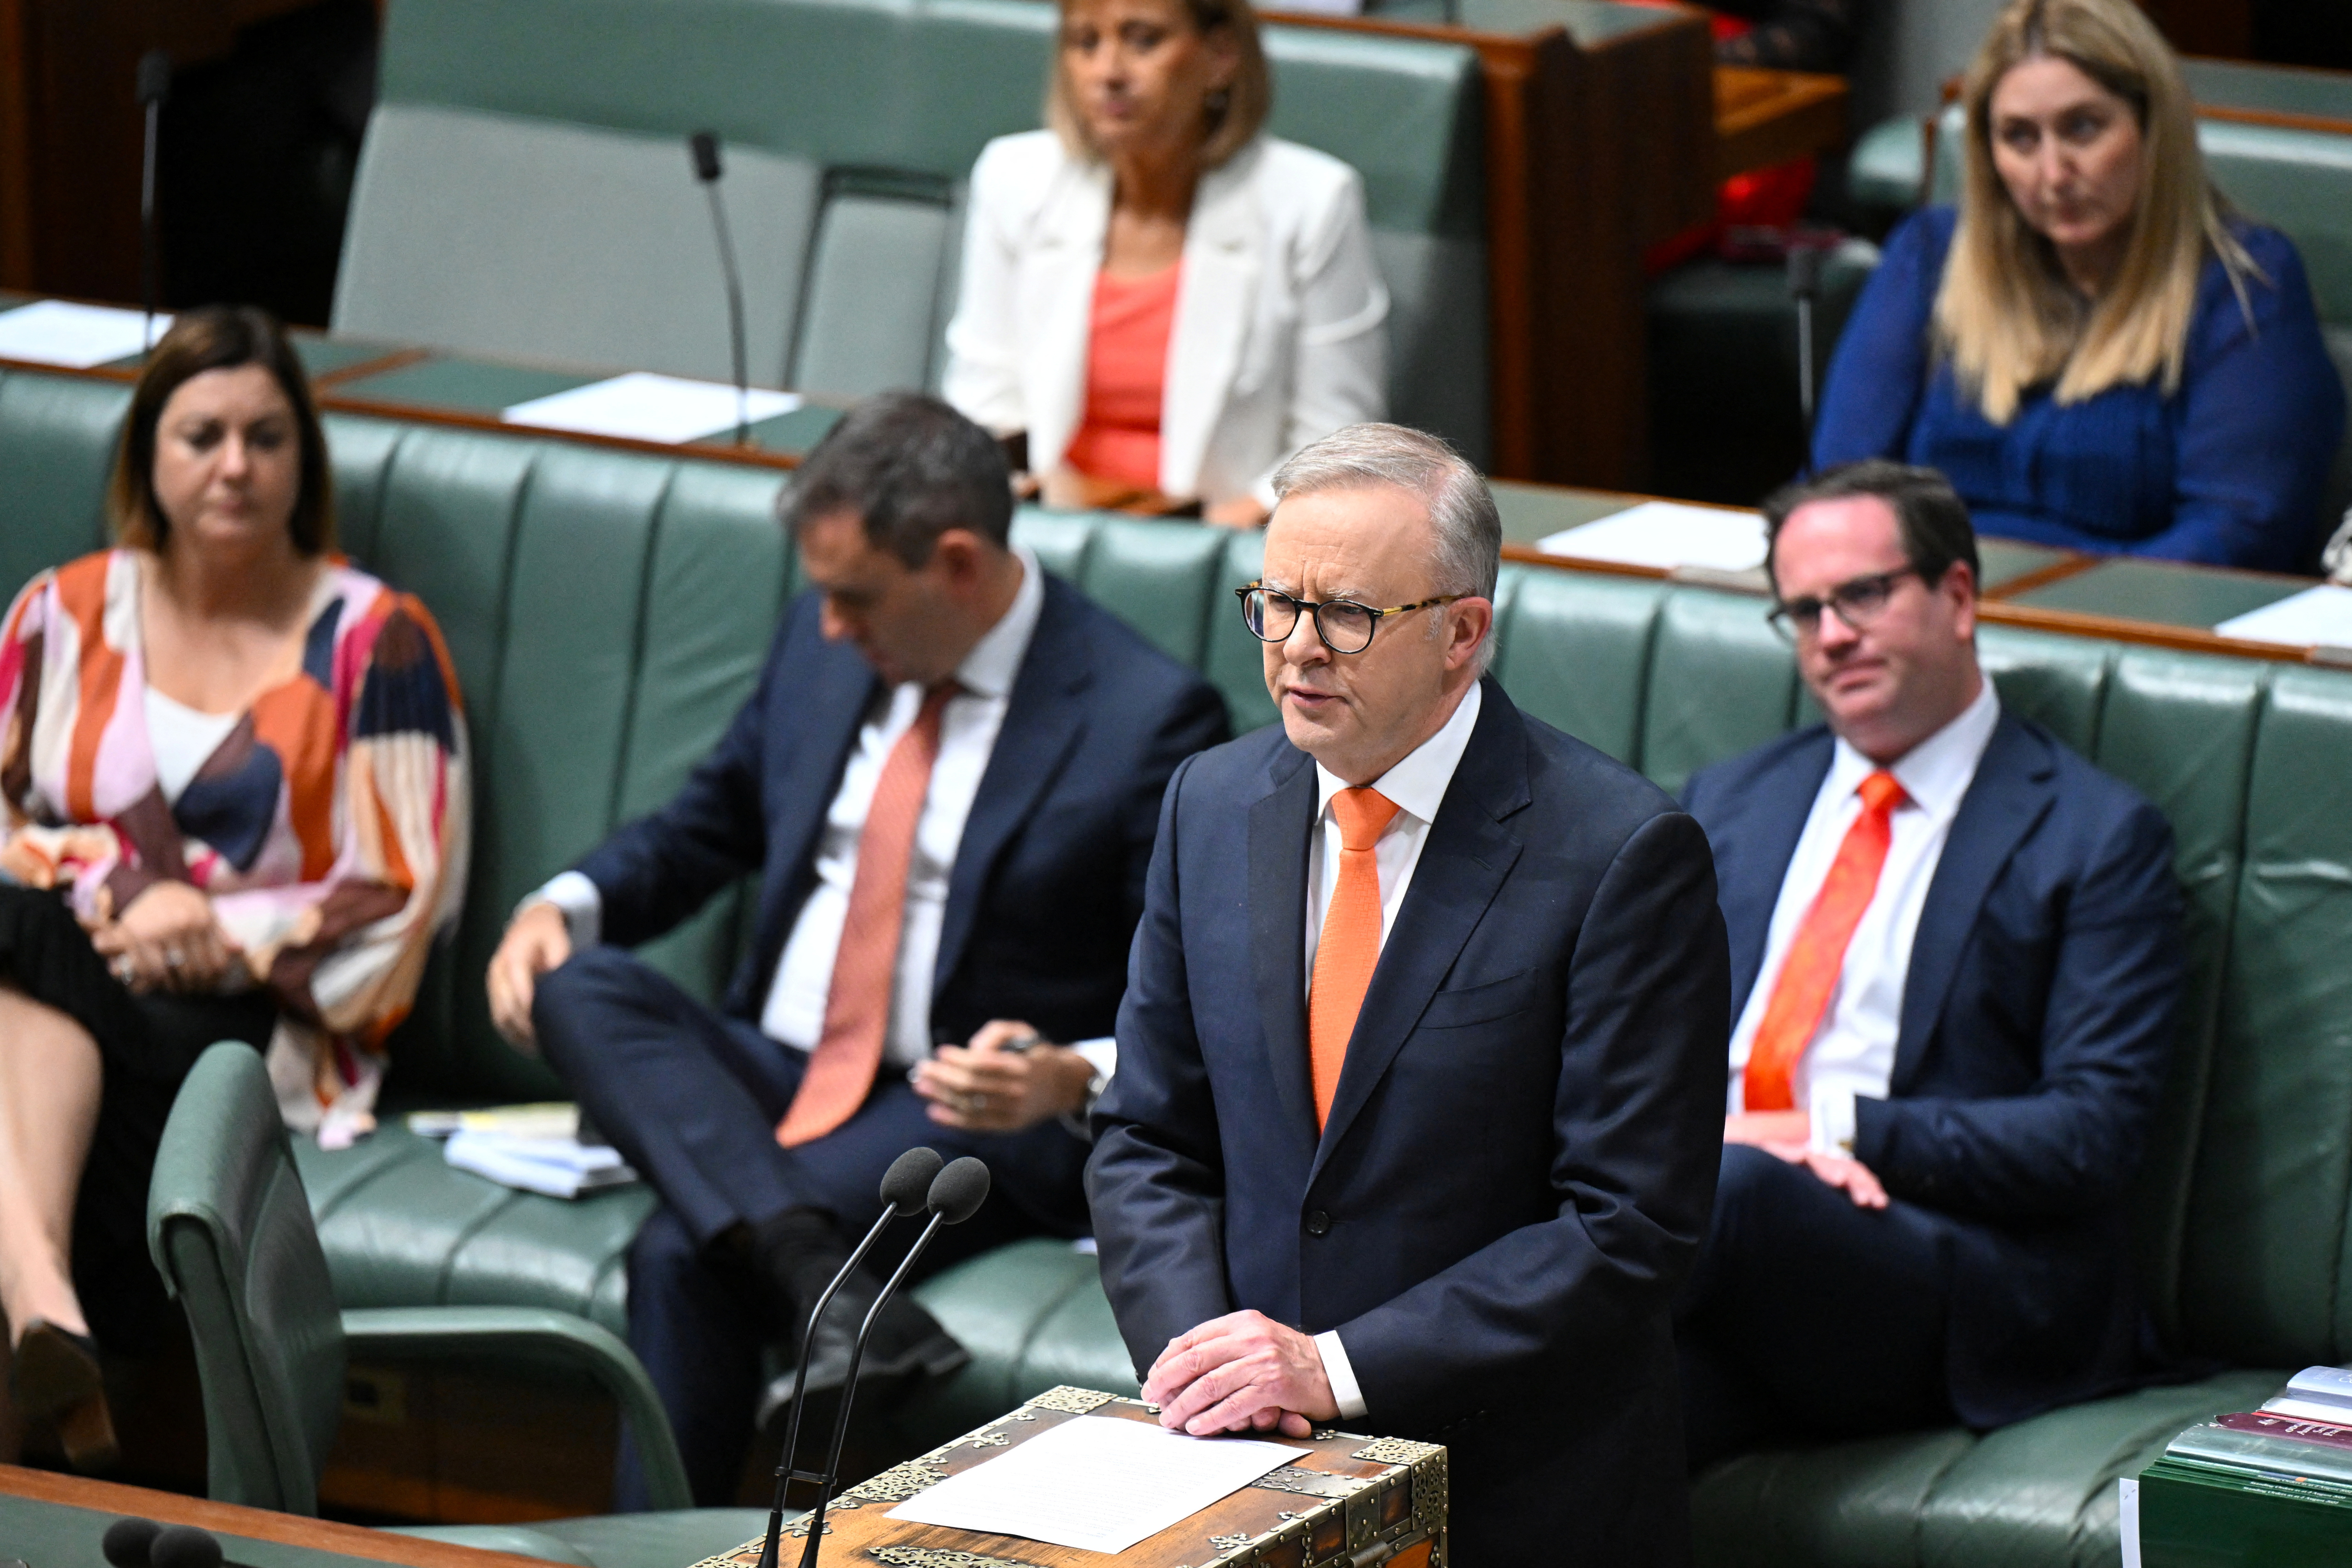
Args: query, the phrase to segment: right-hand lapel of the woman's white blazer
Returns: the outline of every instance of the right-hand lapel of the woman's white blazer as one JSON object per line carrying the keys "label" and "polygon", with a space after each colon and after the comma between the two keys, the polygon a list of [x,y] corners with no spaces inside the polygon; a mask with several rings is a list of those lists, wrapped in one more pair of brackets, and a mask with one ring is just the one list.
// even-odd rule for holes
{"label": "right-hand lapel of the woman's white blazer", "polygon": [[1160,489],[1190,496],[1225,411],[1258,299],[1263,237],[1249,172],[1256,148],[1200,181],[1183,237],[1183,280],[1160,393]]}

